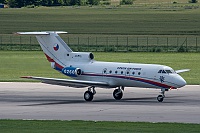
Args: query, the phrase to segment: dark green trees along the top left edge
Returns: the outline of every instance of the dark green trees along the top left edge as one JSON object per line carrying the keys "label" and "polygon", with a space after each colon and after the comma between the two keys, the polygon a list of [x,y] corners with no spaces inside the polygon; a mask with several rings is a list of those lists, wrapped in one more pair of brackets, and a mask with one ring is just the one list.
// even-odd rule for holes
{"label": "dark green trees along the top left edge", "polygon": [[100,0],[0,0],[11,8],[27,6],[74,6],[74,5],[98,5]]}

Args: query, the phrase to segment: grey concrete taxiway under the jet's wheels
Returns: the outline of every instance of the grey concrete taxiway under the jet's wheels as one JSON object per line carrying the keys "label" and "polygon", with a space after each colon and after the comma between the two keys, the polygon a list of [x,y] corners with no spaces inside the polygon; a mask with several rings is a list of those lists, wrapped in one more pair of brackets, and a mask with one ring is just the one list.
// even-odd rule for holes
{"label": "grey concrete taxiway under the jet's wheels", "polygon": [[166,92],[125,88],[123,99],[113,89],[97,88],[92,102],[85,102],[87,88],[76,89],[42,83],[0,83],[0,119],[146,121],[200,123],[200,86],[188,85]]}

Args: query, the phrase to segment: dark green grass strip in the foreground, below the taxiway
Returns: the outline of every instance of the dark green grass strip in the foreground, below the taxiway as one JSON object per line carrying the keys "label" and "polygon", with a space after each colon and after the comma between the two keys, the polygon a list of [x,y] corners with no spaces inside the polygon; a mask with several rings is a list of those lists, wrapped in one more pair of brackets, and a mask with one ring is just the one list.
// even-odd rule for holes
{"label": "dark green grass strip in the foreground, below the taxiway", "polygon": [[199,124],[93,121],[0,120],[3,133],[197,133]]}

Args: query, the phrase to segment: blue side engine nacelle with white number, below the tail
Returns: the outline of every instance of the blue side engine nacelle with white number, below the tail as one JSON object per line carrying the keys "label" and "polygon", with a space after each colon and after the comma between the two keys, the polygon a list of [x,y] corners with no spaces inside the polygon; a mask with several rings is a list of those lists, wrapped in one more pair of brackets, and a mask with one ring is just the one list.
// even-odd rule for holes
{"label": "blue side engine nacelle with white number, below the tail", "polygon": [[62,69],[62,73],[69,77],[77,77],[82,74],[82,71],[80,68],[65,67]]}

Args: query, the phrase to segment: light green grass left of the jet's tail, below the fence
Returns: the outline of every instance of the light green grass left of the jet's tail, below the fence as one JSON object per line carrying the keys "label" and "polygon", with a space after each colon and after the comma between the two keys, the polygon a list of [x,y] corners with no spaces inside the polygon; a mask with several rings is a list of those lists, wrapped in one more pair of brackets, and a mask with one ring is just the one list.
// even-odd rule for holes
{"label": "light green grass left of the jet's tail, below the fence", "polygon": [[57,71],[52,71],[42,52],[2,51],[0,55],[0,81],[27,81],[20,77],[28,75],[62,77]]}

